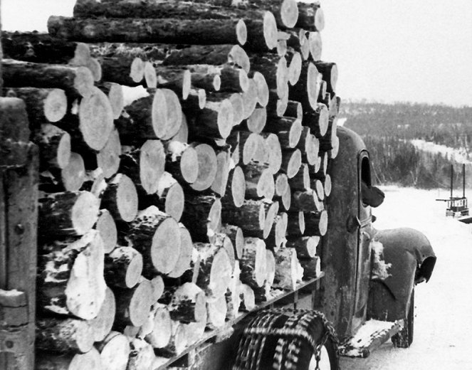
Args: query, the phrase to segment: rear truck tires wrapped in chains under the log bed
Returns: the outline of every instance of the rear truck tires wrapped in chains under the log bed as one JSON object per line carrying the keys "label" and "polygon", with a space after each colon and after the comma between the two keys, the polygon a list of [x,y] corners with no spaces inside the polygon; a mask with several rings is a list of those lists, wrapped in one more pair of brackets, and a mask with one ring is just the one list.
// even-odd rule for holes
{"label": "rear truck tires wrapped in chains under the log bed", "polygon": [[[317,363],[311,343],[320,344],[323,338],[327,339],[320,350],[320,370],[339,369],[337,339],[334,330],[322,314],[314,311],[301,312],[301,310],[284,312],[274,317],[271,327],[281,329],[282,332],[292,331],[298,335],[243,335],[239,343],[240,351],[236,356],[236,366],[233,369],[315,370]],[[248,346],[249,343],[252,345]]]}

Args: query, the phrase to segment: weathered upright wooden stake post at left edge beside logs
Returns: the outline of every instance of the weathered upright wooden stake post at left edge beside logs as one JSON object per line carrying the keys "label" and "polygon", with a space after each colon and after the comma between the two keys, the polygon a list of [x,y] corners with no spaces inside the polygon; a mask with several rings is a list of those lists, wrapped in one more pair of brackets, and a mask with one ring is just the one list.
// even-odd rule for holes
{"label": "weathered upright wooden stake post at left edge beside logs", "polygon": [[[5,127],[3,127],[5,125]],[[34,368],[38,149],[22,100],[0,98],[0,369]],[[8,344],[8,345],[7,345]],[[6,352],[6,353],[4,353]]]}

